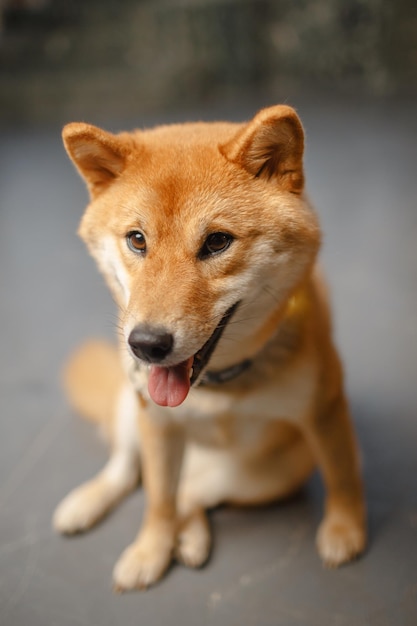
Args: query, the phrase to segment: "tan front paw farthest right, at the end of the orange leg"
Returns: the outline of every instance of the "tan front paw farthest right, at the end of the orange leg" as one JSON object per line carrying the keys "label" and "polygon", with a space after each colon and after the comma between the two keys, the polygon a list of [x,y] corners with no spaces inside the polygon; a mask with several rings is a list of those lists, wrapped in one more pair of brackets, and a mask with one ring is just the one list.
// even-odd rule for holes
{"label": "tan front paw farthest right, at the end of the orange leg", "polygon": [[365,549],[366,530],[350,517],[326,518],[317,533],[317,549],[327,567],[352,561]]}

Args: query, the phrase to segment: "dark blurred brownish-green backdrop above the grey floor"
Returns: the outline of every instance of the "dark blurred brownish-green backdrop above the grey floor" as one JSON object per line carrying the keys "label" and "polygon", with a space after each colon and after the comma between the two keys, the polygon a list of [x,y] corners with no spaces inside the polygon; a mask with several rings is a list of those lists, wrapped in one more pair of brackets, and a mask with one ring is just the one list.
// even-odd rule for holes
{"label": "dark blurred brownish-green backdrop above the grey floor", "polygon": [[3,120],[415,95],[413,0],[1,0]]}

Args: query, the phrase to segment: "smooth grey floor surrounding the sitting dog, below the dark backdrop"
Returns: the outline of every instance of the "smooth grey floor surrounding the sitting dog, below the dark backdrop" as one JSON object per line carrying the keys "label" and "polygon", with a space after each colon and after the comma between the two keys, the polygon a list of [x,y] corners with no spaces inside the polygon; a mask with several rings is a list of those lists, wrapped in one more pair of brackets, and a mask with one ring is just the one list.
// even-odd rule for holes
{"label": "smooth grey floor surrounding the sitting dog, below the dark backdrop", "polygon": [[[244,118],[254,108],[216,114]],[[140,491],[87,536],[52,532],[56,503],[106,458],[94,430],[71,414],[59,371],[85,337],[112,336],[116,313],[74,234],[86,194],[59,128],[3,130],[2,626],[417,624],[416,106],[305,100],[298,108],[363,452],[367,553],[338,571],[321,566],[318,476],[288,503],[213,512],[209,564],[173,567],[146,593],[117,596],[110,583],[139,525]]]}

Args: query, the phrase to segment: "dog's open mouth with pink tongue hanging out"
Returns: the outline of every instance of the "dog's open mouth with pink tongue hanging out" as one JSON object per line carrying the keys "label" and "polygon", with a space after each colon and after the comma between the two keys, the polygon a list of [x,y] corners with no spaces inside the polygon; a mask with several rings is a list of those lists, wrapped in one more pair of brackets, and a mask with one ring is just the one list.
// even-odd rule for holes
{"label": "dog's open mouth with pink tongue hanging out", "polygon": [[190,387],[198,381],[207,366],[224,329],[238,306],[239,302],[236,302],[226,311],[212,335],[194,356],[170,367],[150,366],[148,390],[156,404],[175,407],[184,402]]}

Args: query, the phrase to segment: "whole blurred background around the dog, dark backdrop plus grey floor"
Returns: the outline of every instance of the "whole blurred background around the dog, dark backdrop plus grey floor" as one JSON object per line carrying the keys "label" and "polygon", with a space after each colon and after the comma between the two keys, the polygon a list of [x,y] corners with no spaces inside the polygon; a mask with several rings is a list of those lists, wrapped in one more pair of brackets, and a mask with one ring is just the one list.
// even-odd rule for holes
{"label": "whole blurred background around the dog, dark backdrop plus grey floor", "polygon": [[[0,0],[1,626],[417,624],[417,4],[411,0]],[[293,500],[211,514],[200,571],[117,596],[139,490],[85,537],[51,516],[106,459],[60,386],[114,336],[75,235],[87,195],[62,124],[244,120],[295,106],[324,231],[335,335],[363,458],[369,548],[325,570],[315,474]]]}

